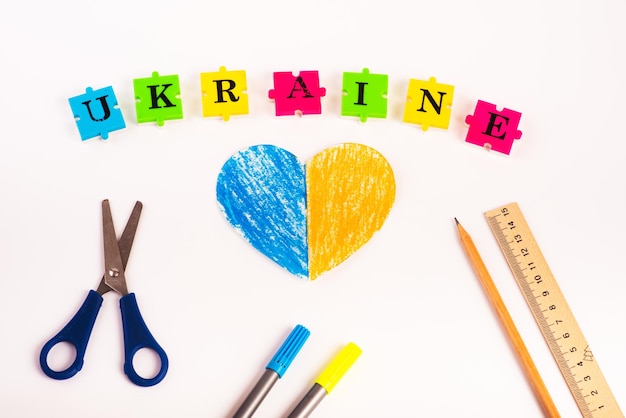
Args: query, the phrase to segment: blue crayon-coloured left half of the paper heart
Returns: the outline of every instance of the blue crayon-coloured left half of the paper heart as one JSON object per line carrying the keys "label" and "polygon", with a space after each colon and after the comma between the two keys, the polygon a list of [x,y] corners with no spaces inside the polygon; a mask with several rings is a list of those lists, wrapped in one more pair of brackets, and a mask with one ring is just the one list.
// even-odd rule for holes
{"label": "blue crayon-coloured left half of the paper heart", "polygon": [[308,276],[304,165],[290,152],[257,145],[218,175],[217,201],[254,248],[296,276]]}

